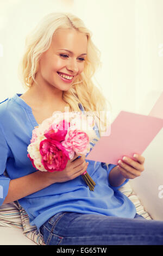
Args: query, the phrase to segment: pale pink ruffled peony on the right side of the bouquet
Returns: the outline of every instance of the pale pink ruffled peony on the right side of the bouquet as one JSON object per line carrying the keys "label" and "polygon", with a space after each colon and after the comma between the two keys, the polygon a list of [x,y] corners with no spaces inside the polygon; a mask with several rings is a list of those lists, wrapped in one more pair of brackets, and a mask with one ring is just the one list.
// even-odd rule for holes
{"label": "pale pink ruffled peony on the right side of the bouquet", "polygon": [[89,136],[83,131],[80,130],[70,130],[68,131],[65,141],[61,144],[68,151],[70,159],[73,158],[73,152],[76,154],[86,154],[87,147],[89,145]]}

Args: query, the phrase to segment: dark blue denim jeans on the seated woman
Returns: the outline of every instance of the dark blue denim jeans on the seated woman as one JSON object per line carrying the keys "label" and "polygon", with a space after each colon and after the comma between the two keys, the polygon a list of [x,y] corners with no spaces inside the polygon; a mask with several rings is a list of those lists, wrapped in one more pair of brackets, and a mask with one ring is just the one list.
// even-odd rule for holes
{"label": "dark blue denim jeans on the seated woman", "polygon": [[40,234],[46,245],[163,245],[163,221],[59,212]]}

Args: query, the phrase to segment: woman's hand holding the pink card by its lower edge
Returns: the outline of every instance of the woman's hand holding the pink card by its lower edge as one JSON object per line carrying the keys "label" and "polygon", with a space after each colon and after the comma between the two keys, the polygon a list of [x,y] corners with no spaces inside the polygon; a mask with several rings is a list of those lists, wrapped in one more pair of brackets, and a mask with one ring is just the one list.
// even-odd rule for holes
{"label": "woman's hand holding the pink card by its lower edge", "polygon": [[135,179],[140,176],[143,172],[145,157],[134,154],[137,161],[130,159],[130,157],[124,156],[122,160],[118,161],[118,169],[120,170],[122,176],[126,179]]}

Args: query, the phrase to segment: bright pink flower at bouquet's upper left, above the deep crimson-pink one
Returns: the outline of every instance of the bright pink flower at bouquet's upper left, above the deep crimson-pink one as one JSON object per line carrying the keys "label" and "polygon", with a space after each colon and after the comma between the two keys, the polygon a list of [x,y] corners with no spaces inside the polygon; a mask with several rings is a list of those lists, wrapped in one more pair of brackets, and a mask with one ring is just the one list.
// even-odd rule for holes
{"label": "bright pink flower at bouquet's upper left, above the deep crimson-pink one", "polygon": [[[59,124],[52,124],[49,131],[44,134],[47,139],[53,139],[54,141],[64,141],[67,134],[67,129],[70,123],[65,120],[61,120]],[[55,130],[58,130],[55,132]]]}

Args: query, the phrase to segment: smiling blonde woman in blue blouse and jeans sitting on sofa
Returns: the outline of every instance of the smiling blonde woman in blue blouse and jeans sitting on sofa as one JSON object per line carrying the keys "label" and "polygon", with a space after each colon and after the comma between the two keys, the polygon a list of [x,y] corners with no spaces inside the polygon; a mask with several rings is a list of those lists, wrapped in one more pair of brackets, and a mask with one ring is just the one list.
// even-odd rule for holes
{"label": "smiling blonde woman in blue blouse and jeans sitting on sofa", "polygon": [[[32,130],[54,111],[106,109],[91,80],[99,59],[91,32],[69,13],[47,15],[27,36],[20,74],[28,90],[0,105],[1,204],[18,200],[47,245],[160,245],[163,222],[137,215],[118,191],[141,175],[143,156],[95,167],[75,155],[65,170],[53,173],[36,170],[27,157]],[[101,130],[96,132],[100,137]],[[96,182],[95,191],[82,179],[85,170]]]}

